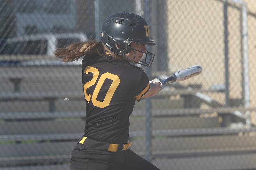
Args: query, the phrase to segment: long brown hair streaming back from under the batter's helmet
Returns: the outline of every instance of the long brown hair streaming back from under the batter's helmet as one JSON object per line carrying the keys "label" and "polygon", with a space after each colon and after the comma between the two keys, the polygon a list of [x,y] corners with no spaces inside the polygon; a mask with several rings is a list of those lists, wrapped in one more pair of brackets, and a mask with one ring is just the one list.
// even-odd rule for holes
{"label": "long brown hair streaming back from under the batter's helmet", "polygon": [[116,55],[108,49],[101,41],[85,41],[81,43],[74,43],[66,48],[58,48],[54,51],[54,55],[61,58],[63,62],[73,62],[80,57],[93,57],[100,55],[103,57],[112,56],[116,59],[126,60],[122,55]]}

